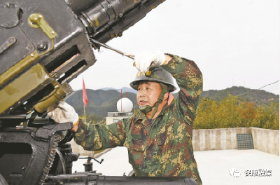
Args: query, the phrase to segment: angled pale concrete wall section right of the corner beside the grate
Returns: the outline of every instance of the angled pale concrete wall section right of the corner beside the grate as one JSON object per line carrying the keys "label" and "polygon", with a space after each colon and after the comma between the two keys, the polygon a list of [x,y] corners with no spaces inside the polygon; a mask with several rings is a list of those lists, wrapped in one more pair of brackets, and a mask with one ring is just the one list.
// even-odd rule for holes
{"label": "angled pale concrete wall section right of the corner beside the grate", "polygon": [[279,130],[251,128],[254,148],[279,156]]}

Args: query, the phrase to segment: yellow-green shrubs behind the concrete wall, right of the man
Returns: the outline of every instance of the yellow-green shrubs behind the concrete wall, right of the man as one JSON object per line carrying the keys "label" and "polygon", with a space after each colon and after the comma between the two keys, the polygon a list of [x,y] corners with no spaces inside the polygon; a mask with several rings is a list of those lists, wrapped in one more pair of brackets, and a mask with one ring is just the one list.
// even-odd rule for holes
{"label": "yellow-green shrubs behind the concrete wall, right of the man", "polygon": [[279,130],[279,102],[255,104],[232,95],[221,101],[202,98],[194,129],[237,127]]}

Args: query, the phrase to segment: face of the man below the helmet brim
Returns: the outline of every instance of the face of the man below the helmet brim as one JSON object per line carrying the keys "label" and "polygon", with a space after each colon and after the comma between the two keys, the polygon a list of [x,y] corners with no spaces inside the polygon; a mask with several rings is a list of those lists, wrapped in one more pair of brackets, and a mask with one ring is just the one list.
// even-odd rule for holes
{"label": "face of the man below the helmet brim", "polygon": [[145,81],[138,85],[137,103],[139,106],[150,105],[151,107],[158,101],[162,87],[159,83]]}

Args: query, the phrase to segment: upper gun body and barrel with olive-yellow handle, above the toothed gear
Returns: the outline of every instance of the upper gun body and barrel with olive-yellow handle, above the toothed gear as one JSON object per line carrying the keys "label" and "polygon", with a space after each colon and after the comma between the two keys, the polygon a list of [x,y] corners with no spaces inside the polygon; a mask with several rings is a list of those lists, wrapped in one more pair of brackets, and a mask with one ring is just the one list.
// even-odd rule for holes
{"label": "upper gun body and barrel with olive-yellow handle, above the toothed gear", "polygon": [[[162,0],[1,0],[0,114],[42,114],[73,93],[68,83],[106,43]],[[23,88],[24,87],[24,88]]]}

